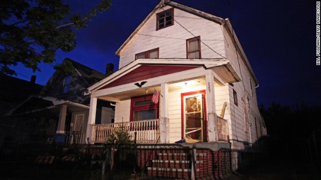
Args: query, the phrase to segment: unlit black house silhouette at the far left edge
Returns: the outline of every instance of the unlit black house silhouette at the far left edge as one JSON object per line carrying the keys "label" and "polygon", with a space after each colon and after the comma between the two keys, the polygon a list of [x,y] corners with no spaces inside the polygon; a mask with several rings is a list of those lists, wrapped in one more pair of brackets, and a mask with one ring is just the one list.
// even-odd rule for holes
{"label": "unlit black house silhouette at the far left edge", "polygon": [[[0,141],[13,140],[12,130],[16,123],[9,120],[5,114],[31,94],[37,94],[44,87],[36,83],[33,75],[30,81],[10,75],[0,74]],[[22,88],[23,87],[23,88]]]}

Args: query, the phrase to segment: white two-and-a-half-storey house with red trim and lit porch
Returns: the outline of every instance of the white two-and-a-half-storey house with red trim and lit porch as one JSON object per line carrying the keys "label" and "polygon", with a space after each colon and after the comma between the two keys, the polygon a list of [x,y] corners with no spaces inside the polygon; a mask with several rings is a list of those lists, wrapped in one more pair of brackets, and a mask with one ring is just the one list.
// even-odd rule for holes
{"label": "white two-and-a-half-storey house with red trim and lit porch", "polygon": [[[108,100],[115,102],[115,123],[136,131],[139,143],[184,138],[201,142],[197,148],[216,149],[213,154],[221,148],[260,151],[256,143],[266,127],[257,106],[259,83],[228,18],[161,1],[115,54],[119,70],[88,88],[91,143],[106,140],[116,126],[95,124],[97,101]],[[213,164],[214,157],[208,156]]]}

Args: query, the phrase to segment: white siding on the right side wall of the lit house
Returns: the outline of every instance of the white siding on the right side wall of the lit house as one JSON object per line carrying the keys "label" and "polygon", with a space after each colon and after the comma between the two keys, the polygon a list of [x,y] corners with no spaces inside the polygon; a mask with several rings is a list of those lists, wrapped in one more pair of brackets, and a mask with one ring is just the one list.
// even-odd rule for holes
{"label": "white siding on the right side wall of the lit house", "polygon": [[[250,75],[250,71],[244,63],[243,57],[241,57],[240,51],[236,53],[234,41],[230,36],[228,29],[224,26],[224,36],[225,36],[225,49],[227,59],[231,60],[232,65],[236,68],[237,72],[242,76],[242,81],[234,82],[233,85],[229,85],[229,104],[231,111],[231,126],[230,126],[230,139],[232,139],[232,148],[244,150],[246,149],[246,142],[255,143],[258,139],[255,133],[255,121],[254,117],[257,120],[257,124],[261,122],[263,124],[263,119],[261,118],[257,100],[256,100],[256,91],[255,91],[255,80]],[[250,87],[250,79],[252,81],[252,94]],[[237,92],[238,105],[234,104],[233,101],[233,89]],[[250,110],[248,111],[249,122],[252,126],[248,127],[245,122],[245,96],[249,96]],[[243,100],[242,100],[243,99]],[[246,127],[247,126],[247,127]],[[248,129],[247,132],[245,130]],[[232,133],[231,133],[232,132]],[[250,139],[251,133],[251,139]],[[260,136],[258,136],[260,137]],[[245,142],[245,143],[243,143]]]}

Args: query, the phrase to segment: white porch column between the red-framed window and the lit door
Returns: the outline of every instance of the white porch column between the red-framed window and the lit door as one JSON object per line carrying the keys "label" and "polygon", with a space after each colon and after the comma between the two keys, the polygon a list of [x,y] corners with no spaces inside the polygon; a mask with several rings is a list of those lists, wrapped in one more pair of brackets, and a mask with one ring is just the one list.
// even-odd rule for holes
{"label": "white porch column between the red-framed window and the lit door", "polygon": [[170,143],[170,119],[169,119],[169,84],[161,84],[161,143]]}

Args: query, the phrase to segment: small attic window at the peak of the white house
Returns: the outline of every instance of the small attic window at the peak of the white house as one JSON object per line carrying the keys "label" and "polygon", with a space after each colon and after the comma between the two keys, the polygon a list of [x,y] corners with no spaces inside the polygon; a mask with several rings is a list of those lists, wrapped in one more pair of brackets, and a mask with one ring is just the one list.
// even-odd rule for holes
{"label": "small attic window at the peak of the white house", "polygon": [[157,13],[156,30],[171,26],[174,24],[174,8],[167,9]]}

